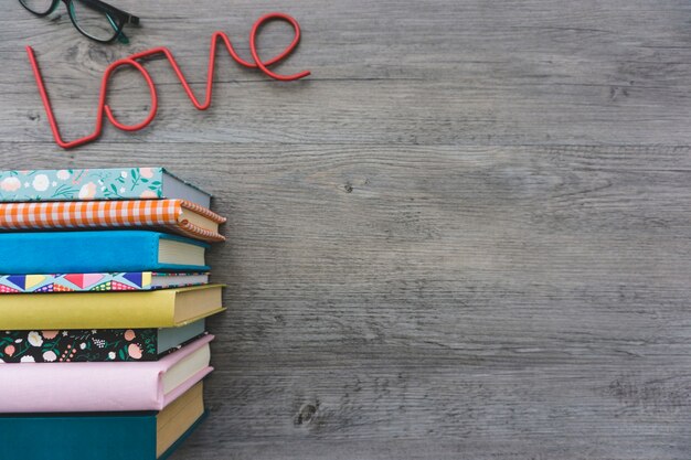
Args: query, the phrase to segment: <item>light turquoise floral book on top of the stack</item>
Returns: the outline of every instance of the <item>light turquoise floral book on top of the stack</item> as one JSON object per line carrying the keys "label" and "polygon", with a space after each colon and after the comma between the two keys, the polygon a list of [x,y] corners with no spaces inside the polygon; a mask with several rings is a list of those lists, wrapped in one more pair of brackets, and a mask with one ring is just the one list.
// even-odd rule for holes
{"label": "light turquoise floral book on top of the stack", "polygon": [[163,168],[0,171],[0,202],[150,199],[211,205],[209,193]]}

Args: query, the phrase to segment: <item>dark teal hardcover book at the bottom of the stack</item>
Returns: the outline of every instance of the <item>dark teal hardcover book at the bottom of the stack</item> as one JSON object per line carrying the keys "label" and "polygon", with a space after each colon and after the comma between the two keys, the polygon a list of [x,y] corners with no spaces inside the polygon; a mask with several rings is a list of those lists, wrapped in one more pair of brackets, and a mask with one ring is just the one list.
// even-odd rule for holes
{"label": "dark teal hardcover book at the bottom of the stack", "polygon": [[1,415],[0,458],[163,460],[205,418],[202,385],[159,413]]}

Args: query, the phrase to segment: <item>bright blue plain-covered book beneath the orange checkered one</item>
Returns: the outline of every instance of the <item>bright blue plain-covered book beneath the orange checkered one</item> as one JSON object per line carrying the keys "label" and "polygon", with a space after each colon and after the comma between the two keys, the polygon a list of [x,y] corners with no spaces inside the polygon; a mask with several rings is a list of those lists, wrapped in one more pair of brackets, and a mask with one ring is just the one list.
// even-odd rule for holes
{"label": "bright blue plain-covered book beneath the orange checkered one", "polygon": [[0,274],[208,271],[208,247],[147,231],[0,233]]}

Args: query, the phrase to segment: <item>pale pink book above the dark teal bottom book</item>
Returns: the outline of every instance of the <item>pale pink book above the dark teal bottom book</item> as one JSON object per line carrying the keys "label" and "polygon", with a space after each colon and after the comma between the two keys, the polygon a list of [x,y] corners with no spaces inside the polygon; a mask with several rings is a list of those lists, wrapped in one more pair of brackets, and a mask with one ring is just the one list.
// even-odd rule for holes
{"label": "pale pink book above the dark teal bottom book", "polygon": [[155,362],[0,364],[0,413],[161,410],[213,371],[213,339]]}

